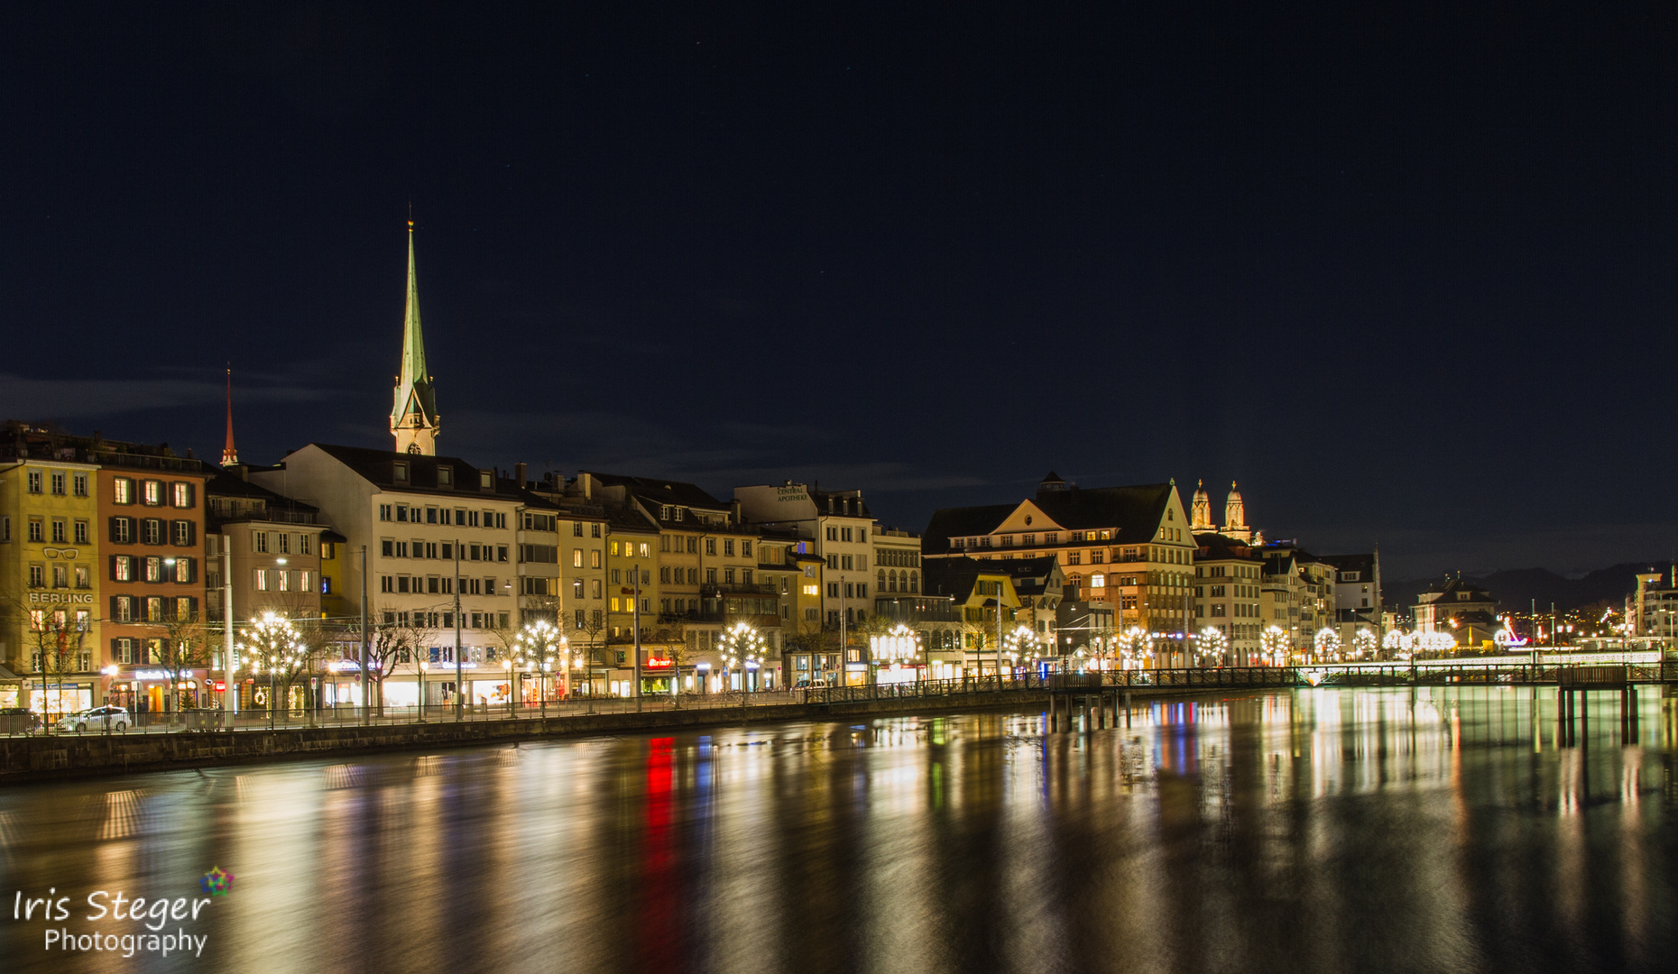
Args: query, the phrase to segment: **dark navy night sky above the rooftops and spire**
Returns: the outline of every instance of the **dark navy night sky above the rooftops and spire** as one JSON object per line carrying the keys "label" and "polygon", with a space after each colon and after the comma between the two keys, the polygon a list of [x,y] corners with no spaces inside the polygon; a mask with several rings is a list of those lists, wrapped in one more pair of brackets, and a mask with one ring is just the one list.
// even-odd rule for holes
{"label": "dark navy night sky above the rooftops and spire", "polygon": [[8,3],[0,416],[388,448],[411,201],[478,464],[1678,545],[1678,7],[1042,7]]}

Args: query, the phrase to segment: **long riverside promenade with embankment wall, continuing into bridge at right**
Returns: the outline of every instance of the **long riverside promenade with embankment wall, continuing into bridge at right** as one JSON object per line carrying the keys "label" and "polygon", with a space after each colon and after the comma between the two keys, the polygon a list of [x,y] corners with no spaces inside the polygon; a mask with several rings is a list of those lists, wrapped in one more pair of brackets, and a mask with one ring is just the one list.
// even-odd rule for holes
{"label": "long riverside promenade with embankment wall, continuing into bridge at right", "polygon": [[[1074,706],[1086,726],[1118,718],[1118,706],[1138,699],[1227,694],[1319,686],[1557,686],[1571,718],[1576,691],[1619,689],[1621,712],[1636,711],[1636,684],[1678,682],[1678,664],[1512,666],[1505,661],[1453,661],[1431,666],[1336,664],[1326,667],[1195,667],[1114,671],[1107,674],[1015,674],[967,681],[921,681],[861,687],[819,687],[752,694],[683,697],[596,697],[547,704],[441,706],[369,712],[337,707],[290,712],[188,711],[168,719],[153,714],[143,726],[0,736],[0,785],[76,775],[201,768],[366,753],[404,748],[450,748],[550,736],[636,734],[750,723],[821,721],[916,712],[961,712],[1044,706],[1050,728],[1069,729]],[[1586,694],[1579,694],[1581,701]],[[1589,704],[1584,704],[1589,706]],[[1094,724],[1089,716],[1096,714]]]}

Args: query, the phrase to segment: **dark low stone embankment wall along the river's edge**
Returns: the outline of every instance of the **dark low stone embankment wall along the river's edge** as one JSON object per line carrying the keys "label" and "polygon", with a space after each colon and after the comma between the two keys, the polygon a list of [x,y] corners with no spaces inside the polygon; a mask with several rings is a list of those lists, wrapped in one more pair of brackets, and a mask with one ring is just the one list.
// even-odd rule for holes
{"label": "dark low stone embankment wall along the river's edge", "polygon": [[[1113,691],[1109,691],[1113,692]],[[1149,687],[1133,699],[1205,696],[1213,687]],[[1228,691],[1223,691],[1228,692]],[[592,734],[646,734],[696,728],[738,728],[782,721],[911,716],[1047,706],[1049,691],[975,692],[948,697],[866,699],[810,704],[624,711],[488,721],[431,721],[171,734],[86,734],[0,738],[0,786],[87,775],[128,775],[218,764],[248,764],[373,751],[465,748]]]}

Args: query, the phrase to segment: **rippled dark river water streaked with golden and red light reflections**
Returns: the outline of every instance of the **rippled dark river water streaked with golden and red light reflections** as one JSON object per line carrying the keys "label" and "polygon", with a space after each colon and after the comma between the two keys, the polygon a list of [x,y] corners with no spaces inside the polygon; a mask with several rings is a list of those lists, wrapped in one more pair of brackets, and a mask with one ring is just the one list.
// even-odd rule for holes
{"label": "rippled dark river water streaked with golden and red light reflections", "polygon": [[[1673,956],[1671,701],[1554,691],[893,718],[0,793],[0,892],[191,895],[201,962],[8,971],[1636,971]],[[10,914],[10,904],[5,904]],[[3,917],[0,917],[3,920]]]}

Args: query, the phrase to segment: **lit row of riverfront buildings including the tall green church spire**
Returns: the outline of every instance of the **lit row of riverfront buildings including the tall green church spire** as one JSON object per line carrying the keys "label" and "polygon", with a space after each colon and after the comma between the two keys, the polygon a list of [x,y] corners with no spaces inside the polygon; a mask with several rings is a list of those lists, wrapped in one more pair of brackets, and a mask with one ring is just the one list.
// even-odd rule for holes
{"label": "lit row of riverfront buildings including the tall green church spire", "polygon": [[[198,632],[205,655],[185,667],[171,647],[265,612],[319,634],[294,706],[357,699],[364,632],[383,702],[404,706],[1280,662],[1279,640],[1384,629],[1376,553],[1267,541],[1233,484],[1220,526],[1203,488],[1185,508],[1175,483],[1081,490],[1050,473],[1034,496],[940,510],[916,535],[857,490],[718,498],[438,456],[411,226],[389,431],[388,451],[312,443],[255,466],[233,446],[232,392],[220,464],[8,422],[0,706],[206,704],[227,692],[223,644]],[[562,659],[513,677],[537,622],[564,635]],[[260,706],[248,664],[233,679]]]}

